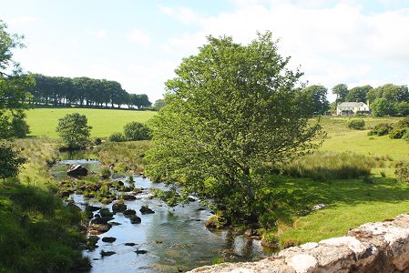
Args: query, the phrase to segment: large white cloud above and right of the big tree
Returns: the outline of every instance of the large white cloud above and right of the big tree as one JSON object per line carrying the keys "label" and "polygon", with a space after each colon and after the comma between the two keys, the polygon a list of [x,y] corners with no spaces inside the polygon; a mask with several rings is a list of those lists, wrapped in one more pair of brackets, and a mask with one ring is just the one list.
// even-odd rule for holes
{"label": "large white cloud above and right of the big tree", "polygon": [[303,78],[311,84],[331,89],[338,83],[409,81],[402,71],[402,67],[409,71],[409,9],[365,13],[362,5],[351,0],[326,7],[321,7],[323,1],[303,5],[294,4],[301,1],[234,2],[233,12],[202,18],[197,32],[169,38],[164,47],[188,56],[206,43],[206,35],[232,35],[247,44],[257,31],[271,30],[281,38],[281,55],[292,56],[293,68],[302,65]]}

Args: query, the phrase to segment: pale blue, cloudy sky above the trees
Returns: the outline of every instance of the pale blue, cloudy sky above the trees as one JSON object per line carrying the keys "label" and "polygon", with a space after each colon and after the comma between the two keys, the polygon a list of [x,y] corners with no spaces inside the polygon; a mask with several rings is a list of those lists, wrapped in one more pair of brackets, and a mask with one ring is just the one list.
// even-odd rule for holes
{"label": "pale blue, cloudy sky above the trees", "polygon": [[409,84],[409,0],[0,0],[0,19],[25,35],[26,71],[115,80],[151,102],[206,36],[247,45],[267,30],[330,101],[340,83]]}

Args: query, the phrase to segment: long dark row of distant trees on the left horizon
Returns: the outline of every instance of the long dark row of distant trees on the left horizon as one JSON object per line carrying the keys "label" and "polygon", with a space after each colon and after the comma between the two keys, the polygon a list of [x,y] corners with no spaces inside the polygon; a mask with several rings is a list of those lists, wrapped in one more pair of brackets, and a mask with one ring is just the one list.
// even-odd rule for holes
{"label": "long dark row of distant trees on the left horizon", "polygon": [[146,94],[128,94],[116,81],[86,76],[44,76],[34,74],[36,84],[30,86],[30,103],[54,106],[88,106],[147,109],[152,104]]}

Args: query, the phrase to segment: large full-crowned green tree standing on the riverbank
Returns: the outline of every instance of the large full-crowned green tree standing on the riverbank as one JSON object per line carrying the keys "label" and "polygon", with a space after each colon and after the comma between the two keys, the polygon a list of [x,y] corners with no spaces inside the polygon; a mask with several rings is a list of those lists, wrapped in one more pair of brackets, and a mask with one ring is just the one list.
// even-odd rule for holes
{"label": "large full-crowned green tree standing on the riverbank", "polygon": [[320,131],[289,60],[270,32],[250,45],[208,37],[166,83],[168,105],[150,122],[148,176],[212,197],[230,220],[257,221],[271,209],[261,207],[261,171],[314,147]]}

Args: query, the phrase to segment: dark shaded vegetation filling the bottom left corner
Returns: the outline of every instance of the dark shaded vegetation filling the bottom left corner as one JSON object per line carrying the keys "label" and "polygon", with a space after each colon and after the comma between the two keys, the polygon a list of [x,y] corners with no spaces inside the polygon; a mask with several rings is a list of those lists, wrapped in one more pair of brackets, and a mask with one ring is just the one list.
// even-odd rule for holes
{"label": "dark shaded vegetation filling the bottom left corner", "polygon": [[0,187],[1,272],[73,272],[89,268],[77,224],[80,210],[39,187]]}

